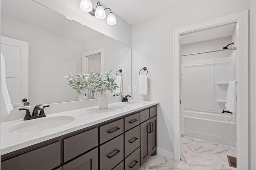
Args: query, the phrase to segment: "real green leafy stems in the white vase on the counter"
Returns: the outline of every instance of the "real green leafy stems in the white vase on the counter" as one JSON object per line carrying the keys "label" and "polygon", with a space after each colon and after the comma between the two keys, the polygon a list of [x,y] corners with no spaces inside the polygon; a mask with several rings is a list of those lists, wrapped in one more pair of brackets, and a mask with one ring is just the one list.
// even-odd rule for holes
{"label": "real green leafy stems in the white vase on the counter", "polygon": [[92,70],[92,72],[89,74],[90,78],[88,80],[88,91],[91,96],[92,94],[97,94],[98,92],[102,94],[104,90],[110,90],[110,92],[112,93],[113,90],[119,88],[114,82],[116,78],[111,75],[111,72],[111,70],[106,71],[105,75],[102,76],[101,73],[93,72]]}

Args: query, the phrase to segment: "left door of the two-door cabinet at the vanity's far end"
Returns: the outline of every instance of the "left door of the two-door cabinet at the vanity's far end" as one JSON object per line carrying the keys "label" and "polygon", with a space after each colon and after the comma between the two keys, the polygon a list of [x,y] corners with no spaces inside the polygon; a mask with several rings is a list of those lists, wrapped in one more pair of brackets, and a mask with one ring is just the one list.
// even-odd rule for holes
{"label": "left door of the two-door cabinet at the vanity's far end", "polygon": [[142,165],[150,156],[150,120],[140,124],[140,165]]}

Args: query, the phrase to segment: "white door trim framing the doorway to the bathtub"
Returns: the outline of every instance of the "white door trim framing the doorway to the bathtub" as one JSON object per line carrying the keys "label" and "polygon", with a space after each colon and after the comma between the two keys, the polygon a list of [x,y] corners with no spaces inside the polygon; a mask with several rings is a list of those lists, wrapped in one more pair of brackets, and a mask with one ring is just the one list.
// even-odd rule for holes
{"label": "white door trim framing the doorway to the bathtub", "polygon": [[237,169],[248,170],[248,10],[174,30],[174,160],[180,161],[180,35],[237,23]]}

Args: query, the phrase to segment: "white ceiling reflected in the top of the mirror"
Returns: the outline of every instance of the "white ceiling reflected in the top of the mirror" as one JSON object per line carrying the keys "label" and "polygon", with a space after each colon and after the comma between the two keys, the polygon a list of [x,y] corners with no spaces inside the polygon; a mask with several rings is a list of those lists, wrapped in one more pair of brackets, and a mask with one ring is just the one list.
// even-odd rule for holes
{"label": "white ceiling reflected in the top of the mirror", "polygon": [[2,17],[79,42],[102,36],[101,33],[76,21],[68,20],[62,14],[32,0],[2,0],[1,8]]}

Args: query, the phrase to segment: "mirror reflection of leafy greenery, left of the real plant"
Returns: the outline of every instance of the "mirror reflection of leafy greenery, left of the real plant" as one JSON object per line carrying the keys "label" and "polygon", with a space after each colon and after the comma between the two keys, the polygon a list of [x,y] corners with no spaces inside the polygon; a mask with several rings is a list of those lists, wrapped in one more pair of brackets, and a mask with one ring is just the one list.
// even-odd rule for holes
{"label": "mirror reflection of leafy greenery, left of the real plant", "polygon": [[89,74],[76,74],[76,77],[74,75],[68,74],[67,76],[64,76],[65,79],[68,80],[68,85],[76,90],[76,94],[81,94],[81,91],[87,90],[88,86],[88,80],[89,80]]}

